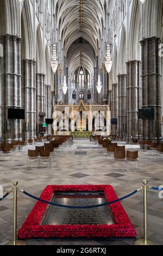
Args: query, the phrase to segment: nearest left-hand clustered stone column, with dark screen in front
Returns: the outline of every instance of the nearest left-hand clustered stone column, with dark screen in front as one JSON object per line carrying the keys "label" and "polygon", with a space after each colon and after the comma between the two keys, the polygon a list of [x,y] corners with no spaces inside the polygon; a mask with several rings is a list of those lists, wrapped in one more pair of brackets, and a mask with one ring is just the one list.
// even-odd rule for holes
{"label": "nearest left-hand clustered stone column, with dark screen in front", "polygon": [[1,36],[2,60],[2,138],[5,141],[22,138],[22,120],[8,119],[8,108],[22,108],[21,38]]}

